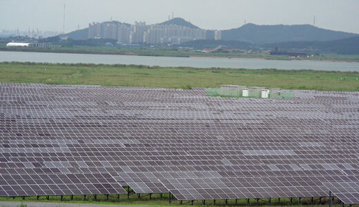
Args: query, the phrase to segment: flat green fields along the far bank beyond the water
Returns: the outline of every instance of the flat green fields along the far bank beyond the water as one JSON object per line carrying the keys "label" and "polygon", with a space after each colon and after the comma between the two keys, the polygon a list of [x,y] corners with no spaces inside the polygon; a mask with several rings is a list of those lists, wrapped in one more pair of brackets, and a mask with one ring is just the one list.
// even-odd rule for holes
{"label": "flat green fields along the far bank beyond the water", "polygon": [[57,52],[57,53],[81,53],[81,54],[107,54],[107,55],[141,55],[141,56],[166,56],[166,57],[223,57],[223,58],[257,58],[275,60],[316,60],[316,61],[359,61],[359,55],[336,55],[322,54],[314,57],[284,57],[281,55],[255,54],[240,51],[234,52],[197,52],[184,51],[177,49],[161,48],[121,48],[106,46],[72,46],[60,47],[51,46],[50,48],[21,48],[6,47],[0,45],[0,51],[18,52]]}

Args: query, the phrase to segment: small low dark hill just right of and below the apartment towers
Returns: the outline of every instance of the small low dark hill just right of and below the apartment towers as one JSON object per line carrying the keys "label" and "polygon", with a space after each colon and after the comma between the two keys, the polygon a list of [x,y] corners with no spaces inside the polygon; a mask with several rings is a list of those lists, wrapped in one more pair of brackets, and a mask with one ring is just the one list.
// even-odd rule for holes
{"label": "small low dark hill just right of and below the apartment towers", "polygon": [[222,46],[222,48],[233,48],[233,49],[252,49],[255,48],[255,45],[246,41],[225,41],[225,40],[214,40],[214,39],[197,39],[194,41],[186,41],[182,43],[181,46],[191,47],[195,49],[204,49],[204,48],[217,48]]}

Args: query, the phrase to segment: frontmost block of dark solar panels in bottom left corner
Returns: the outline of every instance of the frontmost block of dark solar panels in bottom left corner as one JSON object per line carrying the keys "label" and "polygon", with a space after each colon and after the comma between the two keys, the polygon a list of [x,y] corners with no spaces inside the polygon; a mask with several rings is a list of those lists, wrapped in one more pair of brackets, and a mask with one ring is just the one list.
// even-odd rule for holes
{"label": "frontmost block of dark solar panels in bottom left corner", "polygon": [[110,175],[0,175],[0,196],[124,194]]}

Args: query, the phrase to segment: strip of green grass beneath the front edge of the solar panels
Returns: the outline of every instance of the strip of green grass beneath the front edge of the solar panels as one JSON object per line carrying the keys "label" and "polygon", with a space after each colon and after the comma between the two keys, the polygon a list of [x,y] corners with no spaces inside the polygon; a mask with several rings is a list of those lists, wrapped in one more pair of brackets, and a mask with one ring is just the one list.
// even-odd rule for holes
{"label": "strip of green grass beneath the front edge of the solar panels", "polygon": [[[144,196],[142,194],[141,196]],[[159,194],[153,194],[152,198],[149,199],[148,194],[146,197],[142,197],[141,199],[137,198],[137,194],[130,195],[130,199],[127,199],[127,195],[120,195],[119,200],[117,199],[117,195],[110,195],[108,201],[106,201],[105,195],[97,195],[97,199],[95,200],[93,195],[87,195],[86,201],[84,200],[83,195],[74,195],[73,200],[70,199],[70,196],[64,196],[63,200],[60,200],[59,196],[50,196],[49,199],[46,199],[45,196],[39,197],[25,197],[22,199],[21,197],[0,197],[0,201],[23,201],[23,202],[32,202],[32,201],[39,201],[39,202],[57,202],[57,203],[74,203],[74,204],[106,204],[106,205],[128,205],[128,206],[183,206],[180,205],[179,201],[173,200],[171,201],[171,205],[168,204],[168,193],[164,193],[162,199],[159,197]],[[183,204],[186,204],[188,201],[183,201]],[[195,206],[213,206],[213,200],[206,200],[206,204],[203,205],[202,200],[193,201]],[[191,206],[191,201],[186,205]],[[224,199],[217,199],[215,201],[216,206],[225,206]],[[229,206],[235,206],[235,199],[228,200]],[[237,206],[246,206],[247,201],[246,199],[237,199]],[[251,206],[269,206],[268,199],[260,199],[259,203],[257,204],[257,200],[250,199]],[[278,199],[271,199],[270,206],[289,206],[290,201],[289,198],[281,198],[280,204],[278,204]],[[322,198],[321,202],[318,201],[318,197],[314,198],[314,205],[311,204],[310,198],[302,198],[301,202],[299,202],[298,198],[293,198],[293,205],[292,206],[327,206],[327,198]],[[338,199],[335,199],[335,204],[332,206],[340,206],[338,204]]]}

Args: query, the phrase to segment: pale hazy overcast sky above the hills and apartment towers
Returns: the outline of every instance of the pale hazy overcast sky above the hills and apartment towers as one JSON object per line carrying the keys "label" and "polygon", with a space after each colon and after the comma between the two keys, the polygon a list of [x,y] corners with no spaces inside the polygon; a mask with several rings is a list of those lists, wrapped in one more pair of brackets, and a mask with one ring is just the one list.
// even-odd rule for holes
{"label": "pale hazy overcast sky above the hills and apartment towers", "polygon": [[313,23],[331,30],[359,33],[359,0],[0,0],[0,30],[62,31],[86,28],[93,21],[159,23],[168,15],[205,29],[247,23]]}

